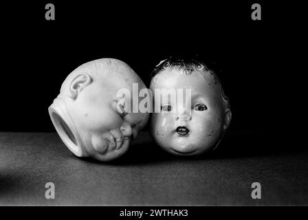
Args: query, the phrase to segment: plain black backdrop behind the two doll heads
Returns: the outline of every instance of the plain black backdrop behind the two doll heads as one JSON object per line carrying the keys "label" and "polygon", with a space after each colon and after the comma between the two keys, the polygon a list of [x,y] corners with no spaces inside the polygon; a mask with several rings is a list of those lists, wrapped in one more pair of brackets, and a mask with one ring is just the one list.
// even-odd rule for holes
{"label": "plain black backdrop behind the two doll heads", "polygon": [[[294,97],[286,67],[294,25],[259,1],[38,1],[2,5],[0,131],[54,131],[47,108],[73,69],[118,58],[143,80],[166,56],[199,54],[222,70],[230,129],[284,131]],[[54,3],[56,20],[45,20]],[[292,90],[292,89],[291,89]],[[293,99],[292,99],[293,98]],[[294,101],[295,102],[295,101]]]}

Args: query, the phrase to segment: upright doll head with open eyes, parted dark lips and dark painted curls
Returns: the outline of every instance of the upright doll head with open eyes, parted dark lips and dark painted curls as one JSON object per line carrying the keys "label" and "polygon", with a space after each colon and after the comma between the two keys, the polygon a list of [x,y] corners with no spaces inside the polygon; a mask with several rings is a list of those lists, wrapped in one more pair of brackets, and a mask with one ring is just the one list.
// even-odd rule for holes
{"label": "upright doll head with open eyes, parted dark lips and dark painted curls", "polygon": [[[175,155],[199,155],[213,150],[232,116],[217,74],[194,59],[171,57],[161,61],[152,76],[153,94],[155,89],[191,89],[190,106],[185,99],[184,104],[176,102],[176,106],[171,106],[168,98],[166,103],[162,103],[163,98],[159,101],[161,112],[151,115],[150,131],[155,142]],[[155,97],[153,100],[155,103]],[[175,112],[170,113],[171,109]]]}

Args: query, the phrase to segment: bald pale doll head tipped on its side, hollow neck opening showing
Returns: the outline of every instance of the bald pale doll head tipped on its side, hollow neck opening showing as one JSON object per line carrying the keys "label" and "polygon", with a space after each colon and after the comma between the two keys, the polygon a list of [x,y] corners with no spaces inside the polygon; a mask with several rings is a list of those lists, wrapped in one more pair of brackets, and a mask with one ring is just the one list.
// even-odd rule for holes
{"label": "bald pale doll head tipped on its side, hollow neck opening showing", "polygon": [[138,83],[139,89],[146,88],[129,65],[112,58],[90,61],[67,76],[49,112],[70,151],[100,161],[118,158],[127,151],[148,120],[148,113],[118,109],[118,90],[131,91],[133,83]]}

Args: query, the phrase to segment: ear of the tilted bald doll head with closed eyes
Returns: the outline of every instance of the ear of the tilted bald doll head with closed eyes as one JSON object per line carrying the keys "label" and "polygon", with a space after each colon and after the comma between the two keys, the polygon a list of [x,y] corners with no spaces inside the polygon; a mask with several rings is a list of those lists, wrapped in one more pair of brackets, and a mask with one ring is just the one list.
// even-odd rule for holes
{"label": "ear of the tilted bald doll head with closed eyes", "polygon": [[80,94],[85,87],[87,87],[89,84],[91,84],[92,78],[89,76],[89,74],[79,74],[72,80],[72,83],[69,87],[69,91],[71,94],[71,97],[76,99],[78,94]]}

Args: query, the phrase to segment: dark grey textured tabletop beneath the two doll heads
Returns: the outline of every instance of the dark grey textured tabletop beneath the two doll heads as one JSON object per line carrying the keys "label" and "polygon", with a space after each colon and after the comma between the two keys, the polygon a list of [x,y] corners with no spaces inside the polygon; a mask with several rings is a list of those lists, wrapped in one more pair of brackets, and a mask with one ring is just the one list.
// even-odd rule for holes
{"label": "dark grey textured tabletop beneath the two doll heads", "polygon": [[[308,151],[279,151],[272,134],[257,132],[230,131],[215,153],[189,159],[143,131],[107,164],[75,157],[56,133],[0,133],[0,206],[308,205]],[[45,198],[47,182],[55,199]]]}

